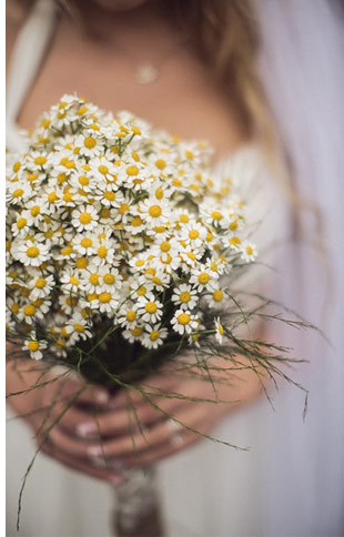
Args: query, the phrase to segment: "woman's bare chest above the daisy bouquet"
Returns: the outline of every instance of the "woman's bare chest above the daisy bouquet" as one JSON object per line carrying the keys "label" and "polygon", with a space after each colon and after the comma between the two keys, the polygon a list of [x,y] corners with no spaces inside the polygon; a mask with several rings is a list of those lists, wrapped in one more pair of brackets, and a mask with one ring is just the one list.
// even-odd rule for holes
{"label": "woman's bare chest above the daisy bouquet", "polygon": [[219,156],[246,141],[230,89],[220,89],[210,69],[190,51],[162,61],[153,83],[138,83],[138,67],[112,47],[58,31],[18,122],[32,128],[63,93],[77,92],[105,110],[130,110],[173,134],[205,140]]}

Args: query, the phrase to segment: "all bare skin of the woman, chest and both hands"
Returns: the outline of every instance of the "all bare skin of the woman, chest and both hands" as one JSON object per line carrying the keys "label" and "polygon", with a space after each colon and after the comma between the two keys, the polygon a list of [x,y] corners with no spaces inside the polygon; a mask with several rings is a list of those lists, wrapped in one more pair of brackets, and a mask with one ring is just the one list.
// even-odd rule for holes
{"label": "all bare skin of the woman, chest and both hands", "polygon": [[[163,2],[83,2],[83,16],[90,28],[88,36],[75,31],[74,24],[67,18],[59,21],[49,54],[20,111],[18,123],[21,126],[30,129],[38,115],[57,102],[61,94],[78,91],[101,108],[131,110],[182,138],[195,139],[202,133],[202,138],[215,148],[214,158],[227,155],[249,141],[235,103],[216,87],[209,68],[195,57],[188,42],[176,47],[175,21],[164,12]],[[9,18],[9,55],[20,23],[20,17]],[[152,59],[159,61],[162,52],[166,55],[173,47],[175,52],[165,64],[162,63],[159,80],[151,85],[138,87],[133,64]],[[34,366],[40,369],[39,363],[34,363]],[[32,361],[21,361],[18,367],[21,375],[11,364],[8,365],[8,393],[32,386],[41,375],[41,371],[32,371]],[[45,374],[44,379],[49,375],[51,377],[52,373]],[[211,434],[214,424],[225,414],[247,404],[261,393],[257,376],[245,368],[236,372],[233,384],[215,382],[216,393],[210,383],[190,376],[166,374],[148,378],[144,384],[150,391],[160,388],[208,399],[217,396],[235,403],[195,404],[154,396],[153,403],[163,411],[159,412],[138,393],[130,393],[129,405],[124,392],[110,397],[102,387],[89,386],[52,428],[42,450],[73,469],[119,483],[123,467],[155,463],[201,438],[179,425],[179,422],[202,434]],[[61,389],[59,395],[58,389]],[[47,407],[58,399],[58,404],[50,409],[45,430],[51,421],[61,414],[65,401],[79,389],[78,379],[67,378],[9,401],[18,414],[27,415],[26,421],[37,433],[40,444],[44,438],[40,425],[42,418],[47,417]],[[128,411],[132,406],[143,430],[131,426],[133,416]],[[94,408],[98,421],[94,418]],[[164,413],[175,419],[172,425]],[[98,430],[103,438],[102,446]]]}

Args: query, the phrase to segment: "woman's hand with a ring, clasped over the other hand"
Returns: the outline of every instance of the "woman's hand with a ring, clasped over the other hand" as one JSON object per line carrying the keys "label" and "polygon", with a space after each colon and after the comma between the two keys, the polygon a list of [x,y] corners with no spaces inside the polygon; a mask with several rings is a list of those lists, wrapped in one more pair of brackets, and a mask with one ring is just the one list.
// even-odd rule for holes
{"label": "woman's hand with a ring, clasped over the other hand", "polygon": [[[145,395],[121,391],[98,412],[77,401],[51,430],[49,449],[84,472],[90,473],[91,465],[91,475],[155,463],[210,435],[224,414],[252,399],[261,387],[256,375],[243,369],[234,386],[170,375],[148,378],[143,389]],[[51,416],[59,414],[61,406],[54,405]]]}

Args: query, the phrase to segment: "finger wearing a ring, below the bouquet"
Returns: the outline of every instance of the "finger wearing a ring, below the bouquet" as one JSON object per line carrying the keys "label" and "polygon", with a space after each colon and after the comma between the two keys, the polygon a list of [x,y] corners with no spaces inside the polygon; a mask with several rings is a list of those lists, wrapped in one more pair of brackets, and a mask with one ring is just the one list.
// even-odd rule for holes
{"label": "finger wearing a ring, below the bouquet", "polygon": [[209,419],[208,411],[205,404],[185,406],[172,419],[158,423],[152,428],[144,429],[143,433],[136,432],[108,440],[104,439],[102,444],[89,446],[87,453],[91,458],[101,456],[105,458],[123,457],[133,453],[140,456],[141,452],[152,449],[171,439],[171,436],[175,433],[175,429],[171,429],[171,422],[180,426],[181,429],[190,427],[198,430],[198,427],[204,427]]}

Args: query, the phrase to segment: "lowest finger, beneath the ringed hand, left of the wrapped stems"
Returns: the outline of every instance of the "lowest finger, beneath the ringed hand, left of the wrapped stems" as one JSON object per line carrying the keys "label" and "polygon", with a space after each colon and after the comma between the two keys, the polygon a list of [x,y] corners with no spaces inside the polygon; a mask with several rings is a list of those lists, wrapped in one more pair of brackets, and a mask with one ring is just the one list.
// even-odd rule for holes
{"label": "lowest finger, beneath the ringed hand, left of the wrapped stems", "polygon": [[68,468],[81,472],[82,474],[87,474],[91,477],[97,477],[98,479],[107,480],[111,483],[111,485],[119,485],[123,482],[123,476],[121,476],[119,473],[109,468],[95,468],[90,464],[89,460],[80,460],[79,458],[74,458],[71,455],[59,452],[52,445],[44,444],[41,450],[49,457],[59,460],[59,463],[62,463]]}

